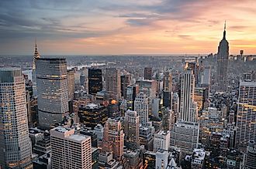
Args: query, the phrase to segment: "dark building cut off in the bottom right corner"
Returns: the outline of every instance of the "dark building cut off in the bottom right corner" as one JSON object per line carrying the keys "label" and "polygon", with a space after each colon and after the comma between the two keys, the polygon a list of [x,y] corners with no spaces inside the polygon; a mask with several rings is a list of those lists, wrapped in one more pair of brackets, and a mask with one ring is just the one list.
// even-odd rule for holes
{"label": "dark building cut off in the bottom right corner", "polygon": [[247,151],[245,153],[245,168],[256,169],[256,143],[254,140],[249,140]]}

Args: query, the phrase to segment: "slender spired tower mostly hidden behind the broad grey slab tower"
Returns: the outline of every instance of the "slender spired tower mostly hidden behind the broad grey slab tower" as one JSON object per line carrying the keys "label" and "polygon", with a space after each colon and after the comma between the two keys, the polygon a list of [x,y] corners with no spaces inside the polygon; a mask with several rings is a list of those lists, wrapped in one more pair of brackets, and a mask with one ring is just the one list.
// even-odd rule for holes
{"label": "slender spired tower mostly hidden behind the broad grey slab tower", "polygon": [[33,82],[33,96],[37,96],[36,90],[36,59],[40,59],[40,53],[37,50],[37,45],[35,42],[35,52],[33,56],[33,66],[32,66],[32,82]]}

